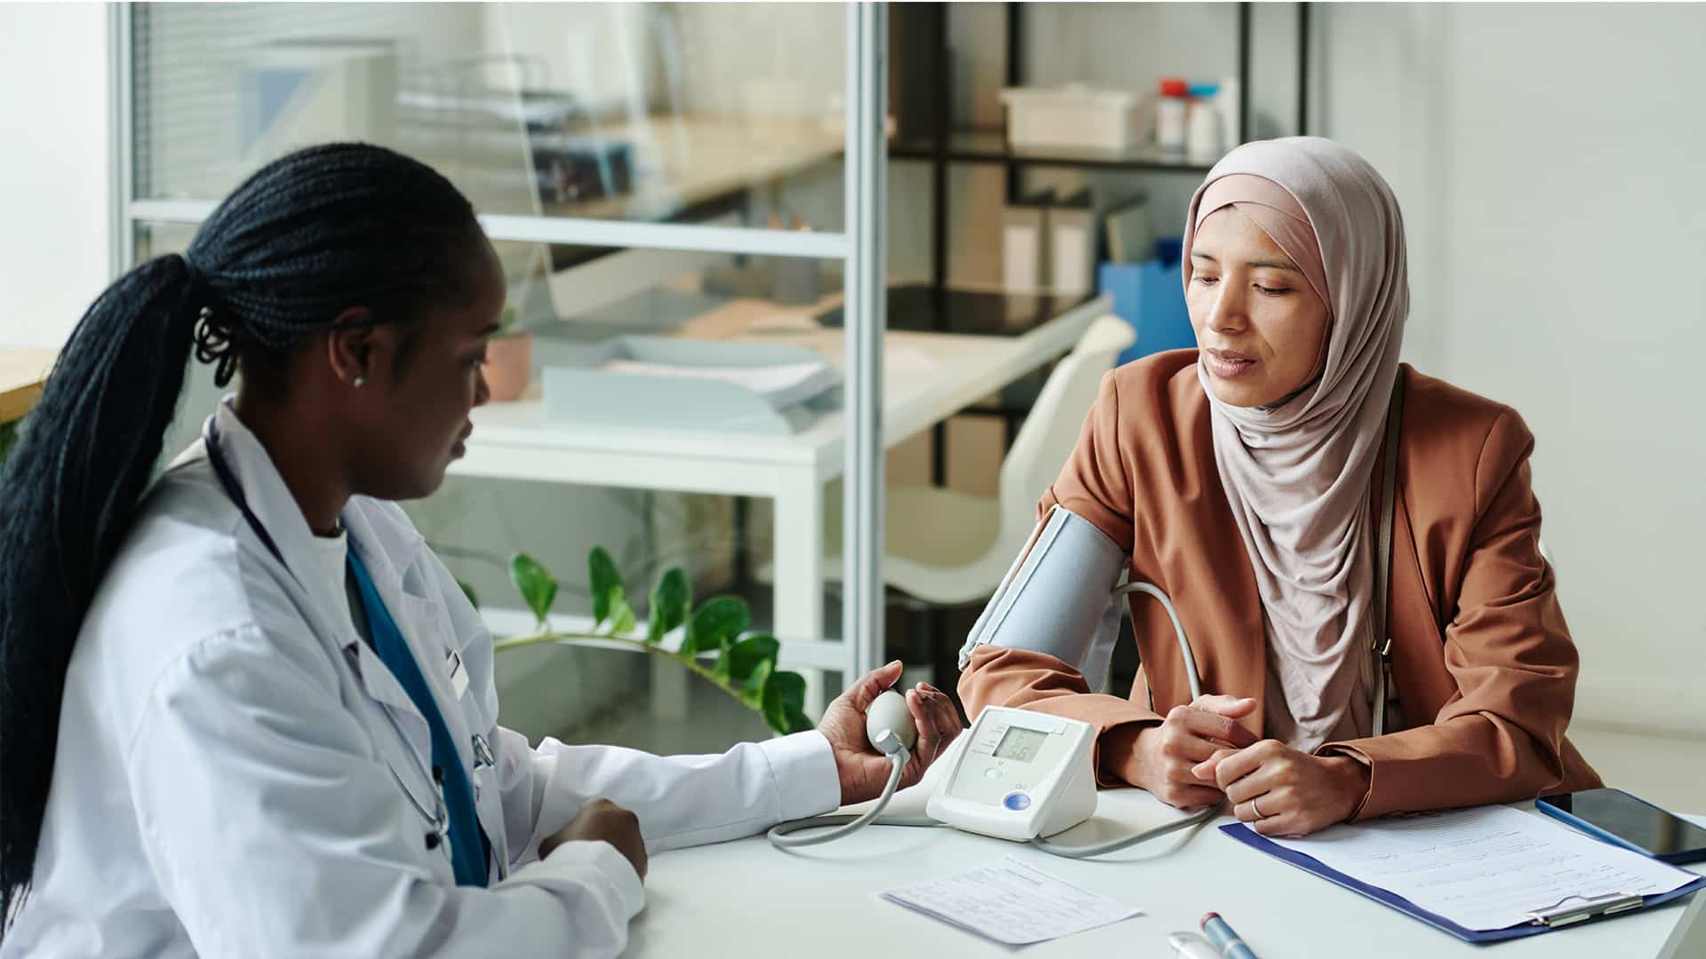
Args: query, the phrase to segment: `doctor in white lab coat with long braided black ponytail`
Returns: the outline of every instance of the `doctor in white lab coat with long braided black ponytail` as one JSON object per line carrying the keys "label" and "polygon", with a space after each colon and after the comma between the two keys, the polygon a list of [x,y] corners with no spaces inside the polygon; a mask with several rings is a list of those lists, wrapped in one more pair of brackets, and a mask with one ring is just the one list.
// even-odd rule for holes
{"label": "doctor in white lab coat with long braided black ponytail", "polygon": [[[0,956],[614,956],[648,853],[877,795],[897,664],[722,756],[496,725],[392,500],[461,456],[503,295],[450,183],[328,145],[89,309],[0,474]],[[241,389],[150,485],[191,343]],[[902,785],[959,732],[906,698]]]}

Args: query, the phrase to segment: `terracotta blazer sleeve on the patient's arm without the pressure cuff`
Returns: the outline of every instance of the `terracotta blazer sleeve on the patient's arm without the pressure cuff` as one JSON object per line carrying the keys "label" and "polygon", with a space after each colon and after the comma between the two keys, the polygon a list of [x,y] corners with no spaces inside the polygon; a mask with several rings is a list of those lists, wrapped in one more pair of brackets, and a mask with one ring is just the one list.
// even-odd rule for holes
{"label": "terracotta blazer sleeve on the patient's arm without the pressure cuff", "polygon": [[1541,558],[1541,505],[1515,411],[1488,432],[1476,464],[1476,526],[1445,667],[1459,693],[1431,724],[1378,739],[1331,742],[1370,766],[1355,821],[1421,809],[1513,802],[1563,782],[1563,739],[1578,657]]}

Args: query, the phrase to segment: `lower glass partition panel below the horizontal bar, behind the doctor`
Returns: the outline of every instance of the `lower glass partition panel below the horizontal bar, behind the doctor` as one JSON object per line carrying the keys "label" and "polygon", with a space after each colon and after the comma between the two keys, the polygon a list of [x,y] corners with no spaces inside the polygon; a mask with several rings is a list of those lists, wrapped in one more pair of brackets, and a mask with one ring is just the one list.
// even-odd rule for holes
{"label": "lower glass partition panel below the horizontal bar, behind the doctor", "polygon": [[[138,225],[138,259],[181,251],[193,232]],[[841,631],[844,345],[819,323],[839,304],[841,264],[539,256],[572,266],[541,283],[536,316],[493,341],[488,381],[507,392],[474,411],[467,456],[409,515],[500,638],[536,630],[510,556],[531,555],[558,582],[551,628],[583,631],[589,553],[602,546],[641,631],[652,589],[679,567],[696,602],[742,597],[749,628],[773,631],[783,669],[800,669],[790,647]],[[196,439],[218,392],[193,365],[164,456]],[[699,753],[768,735],[757,713],[657,654],[539,645],[500,654],[496,669],[502,720],[531,737]]]}

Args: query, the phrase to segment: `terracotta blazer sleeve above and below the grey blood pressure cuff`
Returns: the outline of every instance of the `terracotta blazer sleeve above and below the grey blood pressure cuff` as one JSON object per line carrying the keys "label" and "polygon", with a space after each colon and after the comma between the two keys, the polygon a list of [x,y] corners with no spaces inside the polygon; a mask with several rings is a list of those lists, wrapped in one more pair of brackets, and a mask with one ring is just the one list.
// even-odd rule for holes
{"label": "terracotta blazer sleeve above and below the grey blood pressure cuff", "polygon": [[[1095,404],[1059,476],[1037,503],[1037,517],[1054,503],[1078,514],[1124,553],[1131,553],[1131,473],[1119,442],[1119,391],[1104,374]],[[1131,782],[1131,742],[1145,725],[1162,722],[1121,696],[1090,693],[1083,674],[1059,659],[1030,650],[983,645],[960,672],[960,701],[974,717],[984,706],[1022,706],[1088,722],[1097,729],[1095,775],[1100,785]]]}

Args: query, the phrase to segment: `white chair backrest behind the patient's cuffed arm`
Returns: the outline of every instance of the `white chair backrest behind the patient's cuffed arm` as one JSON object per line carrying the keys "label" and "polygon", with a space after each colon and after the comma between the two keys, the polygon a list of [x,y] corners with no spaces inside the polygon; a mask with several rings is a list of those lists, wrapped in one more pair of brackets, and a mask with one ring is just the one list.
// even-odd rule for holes
{"label": "white chair backrest behind the patient's cuffed arm", "polygon": [[1042,384],[1042,392],[1001,462],[1000,541],[1010,546],[1005,551],[1008,560],[1036,527],[1037,497],[1054,483],[1078,444],[1083,418],[1102,386],[1102,374],[1114,367],[1114,358],[1136,336],[1131,324],[1117,316],[1097,317]]}

